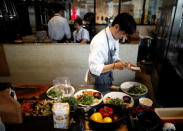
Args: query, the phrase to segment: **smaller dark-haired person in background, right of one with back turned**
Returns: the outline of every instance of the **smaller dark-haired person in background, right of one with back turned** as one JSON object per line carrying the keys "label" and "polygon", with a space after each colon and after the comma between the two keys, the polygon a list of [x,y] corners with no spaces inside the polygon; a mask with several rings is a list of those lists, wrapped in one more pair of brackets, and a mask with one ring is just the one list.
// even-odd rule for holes
{"label": "smaller dark-haired person in background, right of one with back turned", "polygon": [[73,38],[74,38],[74,42],[84,44],[90,41],[90,36],[87,29],[83,28],[82,25],[83,25],[82,19],[78,17],[74,21],[74,27],[76,30],[73,32]]}

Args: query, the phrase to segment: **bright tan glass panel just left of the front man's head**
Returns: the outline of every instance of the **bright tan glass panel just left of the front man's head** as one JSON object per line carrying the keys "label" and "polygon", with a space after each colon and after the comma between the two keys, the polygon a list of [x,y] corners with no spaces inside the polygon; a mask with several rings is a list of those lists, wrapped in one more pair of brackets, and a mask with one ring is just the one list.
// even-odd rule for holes
{"label": "bright tan glass panel just left of the front man's head", "polygon": [[110,24],[118,14],[119,0],[96,0],[96,23]]}

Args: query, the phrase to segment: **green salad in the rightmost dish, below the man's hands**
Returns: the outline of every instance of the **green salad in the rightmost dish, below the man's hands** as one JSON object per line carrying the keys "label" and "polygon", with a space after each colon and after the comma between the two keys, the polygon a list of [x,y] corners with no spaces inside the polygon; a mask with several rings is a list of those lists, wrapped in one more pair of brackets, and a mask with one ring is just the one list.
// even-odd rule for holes
{"label": "green salad in the rightmost dish, below the man's hands", "polygon": [[133,85],[128,89],[128,93],[140,95],[146,92],[146,88],[143,85]]}

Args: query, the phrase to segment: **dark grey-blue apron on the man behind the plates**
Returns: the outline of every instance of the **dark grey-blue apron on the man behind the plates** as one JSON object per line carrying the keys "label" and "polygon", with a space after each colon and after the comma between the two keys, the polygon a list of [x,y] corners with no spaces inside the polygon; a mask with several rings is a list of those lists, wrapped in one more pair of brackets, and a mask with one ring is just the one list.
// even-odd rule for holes
{"label": "dark grey-blue apron on the man behind the plates", "polygon": [[[110,50],[109,38],[107,36],[106,30],[105,30],[105,34],[106,34],[106,39],[107,39],[107,44],[108,44],[108,61],[106,63],[104,63],[104,65],[108,65],[108,64],[113,63],[112,57],[114,56],[116,50],[115,49]],[[113,81],[112,71],[101,73],[100,76],[96,76],[93,74],[91,74],[91,75],[94,76],[94,78],[95,78],[95,85],[112,85],[112,81]]]}

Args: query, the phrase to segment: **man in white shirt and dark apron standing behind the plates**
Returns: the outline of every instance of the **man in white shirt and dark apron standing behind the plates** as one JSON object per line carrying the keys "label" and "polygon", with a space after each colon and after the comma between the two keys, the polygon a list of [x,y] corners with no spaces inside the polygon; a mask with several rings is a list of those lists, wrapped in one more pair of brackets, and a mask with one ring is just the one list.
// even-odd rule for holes
{"label": "man in white shirt and dark apron standing behind the plates", "polygon": [[128,13],[115,17],[111,26],[103,29],[91,41],[89,53],[89,71],[85,77],[87,84],[112,85],[112,70],[135,71],[130,62],[119,58],[119,39],[136,32],[136,22]]}

